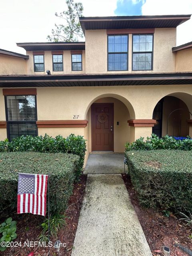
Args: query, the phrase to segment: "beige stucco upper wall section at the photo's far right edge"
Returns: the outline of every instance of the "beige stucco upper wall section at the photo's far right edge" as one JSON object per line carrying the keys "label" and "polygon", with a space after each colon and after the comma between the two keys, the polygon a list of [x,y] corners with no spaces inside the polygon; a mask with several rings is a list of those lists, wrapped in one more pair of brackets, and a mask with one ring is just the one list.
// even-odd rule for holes
{"label": "beige stucco upper wall section at the photo's far right edge", "polygon": [[176,52],[176,72],[192,72],[192,48]]}

